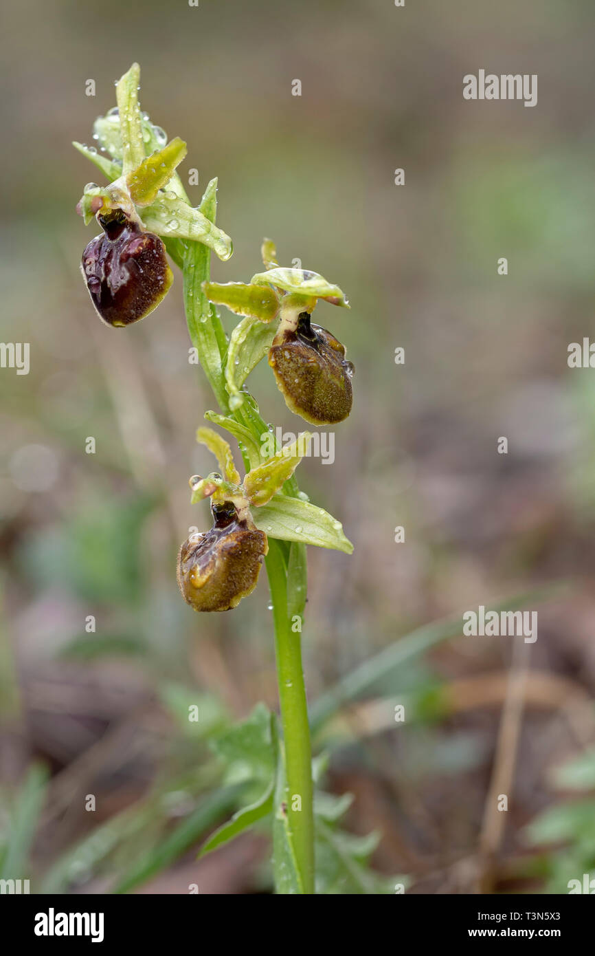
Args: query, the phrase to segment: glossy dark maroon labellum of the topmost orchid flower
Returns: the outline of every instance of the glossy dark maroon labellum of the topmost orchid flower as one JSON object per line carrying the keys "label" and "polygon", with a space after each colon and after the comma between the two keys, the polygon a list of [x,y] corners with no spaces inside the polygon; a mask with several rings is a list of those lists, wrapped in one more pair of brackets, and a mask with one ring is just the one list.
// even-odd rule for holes
{"label": "glossy dark maroon labellum of the topmost orchid flower", "polygon": [[153,312],[173,282],[165,246],[120,211],[99,223],[105,234],[82,257],[87,289],[104,322],[130,325]]}

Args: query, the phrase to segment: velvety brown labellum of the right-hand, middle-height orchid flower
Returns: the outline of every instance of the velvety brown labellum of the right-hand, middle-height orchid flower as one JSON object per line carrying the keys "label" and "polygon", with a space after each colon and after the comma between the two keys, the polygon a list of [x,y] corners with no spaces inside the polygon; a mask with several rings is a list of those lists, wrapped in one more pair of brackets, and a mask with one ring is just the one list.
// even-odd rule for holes
{"label": "velvety brown labellum of the right-hand, middle-height orchid flower", "polygon": [[342,422],[351,412],[353,366],[345,348],[307,312],[297,328],[281,325],[268,352],[268,364],[285,396],[287,407],[312,424]]}

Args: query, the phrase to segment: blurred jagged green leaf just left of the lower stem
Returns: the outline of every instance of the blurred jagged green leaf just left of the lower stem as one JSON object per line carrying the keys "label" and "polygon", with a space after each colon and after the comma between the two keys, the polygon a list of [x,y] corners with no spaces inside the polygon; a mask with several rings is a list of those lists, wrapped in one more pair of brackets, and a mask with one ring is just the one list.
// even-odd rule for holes
{"label": "blurred jagged green leaf just left of the lower stem", "polygon": [[226,764],[229,783],[261,780],[268,784],[275,771],[270,711],[264,704],[257,704],[246,720],[215,737],[209,746]]}

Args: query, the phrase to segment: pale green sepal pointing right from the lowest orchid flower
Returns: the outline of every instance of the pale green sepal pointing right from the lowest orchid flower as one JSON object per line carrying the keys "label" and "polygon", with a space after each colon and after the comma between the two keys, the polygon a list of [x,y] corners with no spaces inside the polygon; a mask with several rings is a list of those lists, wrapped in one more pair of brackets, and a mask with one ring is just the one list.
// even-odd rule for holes
{"label": "pale green sepal pointing right from the lowest orchid flower", "polygon": [[351,554],[353,545],[343,533],[343,526],[328,511],[301,498],[275,494],[252,517],[256,527],[270,537],[284,541],[312,544]]}

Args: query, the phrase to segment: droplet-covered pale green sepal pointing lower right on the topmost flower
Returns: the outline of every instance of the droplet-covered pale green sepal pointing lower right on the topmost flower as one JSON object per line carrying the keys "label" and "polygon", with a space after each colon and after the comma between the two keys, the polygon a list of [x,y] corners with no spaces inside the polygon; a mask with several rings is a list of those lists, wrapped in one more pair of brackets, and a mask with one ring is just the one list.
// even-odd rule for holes
{"label": "droplet-covered pale green sepal pointing lower right on the topmost flower", "polygon": [[220,259],[226,260],[233,252],[233,243],[223,229],[217,228],[201,211],[188,206],[180,197],[159,196],[152,206],[141,212],[146,228],[158,235],[178,239],[191,239],[212,249]]}

